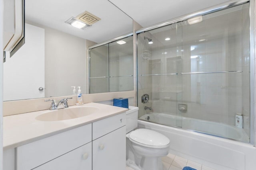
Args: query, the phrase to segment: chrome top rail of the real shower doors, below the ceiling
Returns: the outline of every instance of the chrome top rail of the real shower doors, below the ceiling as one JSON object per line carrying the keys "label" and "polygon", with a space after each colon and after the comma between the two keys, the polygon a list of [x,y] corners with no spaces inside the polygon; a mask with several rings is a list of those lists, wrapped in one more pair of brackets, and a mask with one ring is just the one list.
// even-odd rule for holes
{"label": "chrome top rail of the real shower doors, below the ceiling", "polygon": [[149,31],[149,30],[152,30],[152,29],[156,29],[156,28],[159,28],[159,27],[163,27],[163,26],[166,26],[166,25],[170,25],[172,23],[177,23],[177,22],[180,22],[180,21],[184,21],[184,20],[187,20],[188,18],[193,18],[193,17],[196,17],[196,16],[202,16],[202,15],[210,14],[212,12],[217,12],[217,11],[220,11],[220,10],[224,10],[226,8],[231,8],[231,7],[240,5],[240,4],[244,4],[246,2],[249,2],[249,1],[248,0],[232,0],[232,1],[229,1],[228,4],[227,3],[218,4],[216,6],[212,6],[210,8],[206,8],[204,10],[199,10],[197,12],[193,12],[193,13],[190,13],[190,14],[187,14],[187,15],[184,15],[184,16],[180,16],[180,17],[174,18],[172,20],[160,22],[160,23],[148,26],[148,27],[144,27],[142,29],[138,29],[136,31],[136,33],[138,34],[138,33],[142,33],[142,32]]}

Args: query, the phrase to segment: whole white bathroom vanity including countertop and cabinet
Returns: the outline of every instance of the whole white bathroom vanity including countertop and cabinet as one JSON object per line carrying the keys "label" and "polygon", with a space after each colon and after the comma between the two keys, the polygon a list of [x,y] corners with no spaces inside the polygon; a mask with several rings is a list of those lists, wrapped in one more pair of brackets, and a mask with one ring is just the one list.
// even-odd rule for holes
{"label": "whole white bathroom vanity including countertop and cabinet", "polygon": [[97,109],[55,121],[48,110],[4,117],[4,170],[125,169],[128,109],[97,103],[66,109],[86,107]]}

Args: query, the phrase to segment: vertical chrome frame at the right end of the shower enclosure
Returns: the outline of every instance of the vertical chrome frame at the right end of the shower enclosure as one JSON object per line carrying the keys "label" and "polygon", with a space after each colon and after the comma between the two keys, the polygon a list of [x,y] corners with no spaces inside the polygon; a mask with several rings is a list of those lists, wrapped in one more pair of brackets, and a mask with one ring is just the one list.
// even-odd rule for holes
{"label": "vertical chrome frame at the right end of the shower enclosure", "polygon": [[250,1],[250,144],[256,146],[255,132],[255,0]]}

